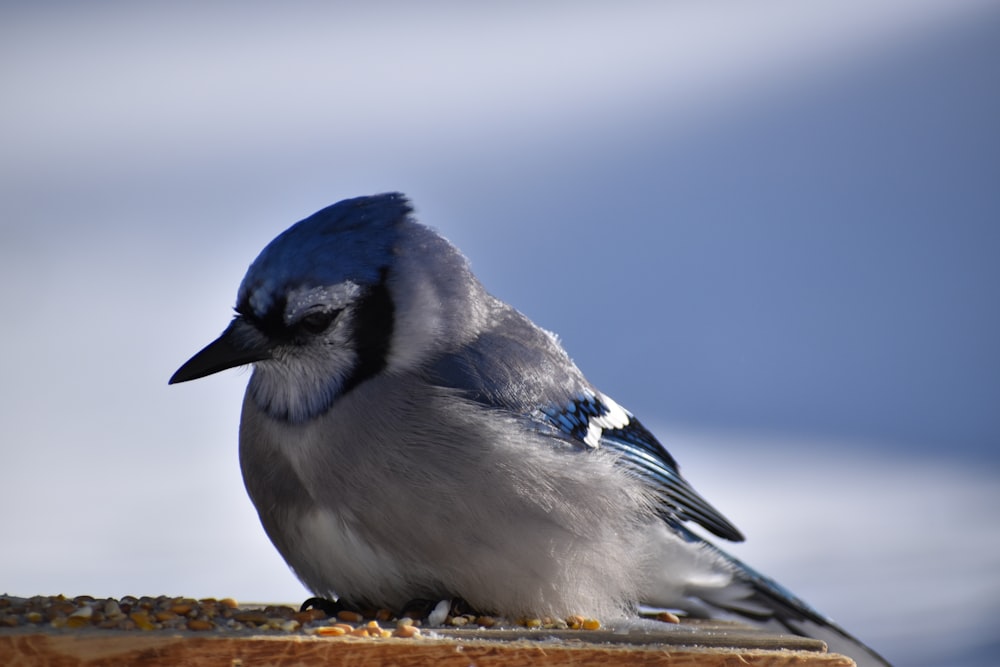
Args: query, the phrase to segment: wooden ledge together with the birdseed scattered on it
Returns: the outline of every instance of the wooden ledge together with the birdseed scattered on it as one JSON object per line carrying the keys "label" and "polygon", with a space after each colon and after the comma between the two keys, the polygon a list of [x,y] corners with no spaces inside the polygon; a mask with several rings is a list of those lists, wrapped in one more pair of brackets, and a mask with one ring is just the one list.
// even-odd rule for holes
{"label": "wooden ledge together with the birdseed scattered on it", "polygon": [[373,615],[384,620],[347,612],[328,618],[321,611],[296,612],[287,605],[241,606],[229,598],[0,596],[0,667],[854,664],[828,654],[815,639],[724,621],[633,618],[598,626],[574,617],[561,624],[559,619],[536,619],[529,628],[460,615],[440,626],[421,627],[412,636],[403,632],[415,630],[412,623],[390,632],[409,619]]}

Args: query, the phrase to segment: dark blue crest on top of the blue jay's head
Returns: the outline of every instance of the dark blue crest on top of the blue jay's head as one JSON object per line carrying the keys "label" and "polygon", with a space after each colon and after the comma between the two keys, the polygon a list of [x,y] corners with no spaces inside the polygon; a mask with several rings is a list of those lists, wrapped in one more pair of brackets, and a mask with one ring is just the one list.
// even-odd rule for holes
{"label": "dark blue crest on top of the blue jay's head", "polygon": [[291,289],[379,281],[399,224],[413,211],[398,192],[345,199],[300,220],[267,244],[247,270],[237,310],[264,317]]}

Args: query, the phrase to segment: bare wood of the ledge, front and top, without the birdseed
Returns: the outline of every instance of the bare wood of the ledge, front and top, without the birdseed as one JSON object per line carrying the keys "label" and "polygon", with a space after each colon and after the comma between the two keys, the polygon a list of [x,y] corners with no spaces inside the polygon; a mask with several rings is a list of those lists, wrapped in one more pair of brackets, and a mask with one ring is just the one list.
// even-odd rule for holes
{"label": "bare wood of the ledge, front and top, without the birdseed", "polygon": [[80,630],[0,631],[10,667],[549,667],[623,664],[668,667],[852,667],[823,642],[742,625],[639,623],[607,630],[426,630],[421,639],[302,634],[201,634]]}

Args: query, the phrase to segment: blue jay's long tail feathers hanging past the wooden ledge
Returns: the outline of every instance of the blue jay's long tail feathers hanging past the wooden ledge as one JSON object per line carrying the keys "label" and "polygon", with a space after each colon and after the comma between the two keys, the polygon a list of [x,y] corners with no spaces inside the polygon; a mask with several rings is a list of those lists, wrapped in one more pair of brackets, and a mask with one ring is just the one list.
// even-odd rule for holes
{"label": "blue jay's long tail feathers hanging past the wooden ledge", "polygon": [[778,582],[686,529],[682,531],[692,541],[715,551],[732,568],[733,581],[728,586],[688,591],[705,605],[711,616],[735,618],[771,630],[822,640],[831,652],[848,656],[858,667],[891,667],[885,658]]}

